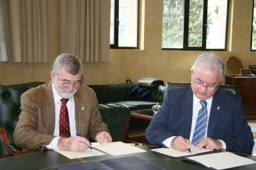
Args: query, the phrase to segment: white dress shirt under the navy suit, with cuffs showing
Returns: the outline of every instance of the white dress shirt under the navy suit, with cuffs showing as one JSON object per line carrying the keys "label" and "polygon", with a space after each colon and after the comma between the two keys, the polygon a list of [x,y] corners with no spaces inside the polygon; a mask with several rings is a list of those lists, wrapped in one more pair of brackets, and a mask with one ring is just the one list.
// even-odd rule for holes
{"label": "white dress shirt under the navy suit, with cuffs showing", "polygon": [[[205,137],[207,136],[208,122],[209,122],[209,117],[210,117],[210,113],[211,113],[212,97],[210,99],[208,99],[206,102],[207,102],[207,125],[206,125]],[[195,96],[195,94],[193,94],[193,117],[192,117],[189,141],[192,141],[192,139],[193,139],[193,134],[194,134],[195,127],[196,127],[196,119],[198,116],[198,112],[201,108],[202,108],[202,105],[200,103],[200,99],[198,99]],[[163,145],[165,145],[168,148],[171,148],[172,139],[175,137],[177,137],[177,136],[172,136],[170,138],[165,139],[163,141]],[[226,149],[225,142],[220,139],[218,139],[218,140],[221,141],[221,143],[223,144],[223,147],[221,149]]]}

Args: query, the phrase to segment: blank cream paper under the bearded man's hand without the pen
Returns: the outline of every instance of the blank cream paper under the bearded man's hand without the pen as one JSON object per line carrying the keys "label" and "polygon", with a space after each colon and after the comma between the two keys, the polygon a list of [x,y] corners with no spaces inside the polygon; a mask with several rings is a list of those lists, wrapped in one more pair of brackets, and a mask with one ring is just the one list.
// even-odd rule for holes
{"label": "blank cream paper under the bearded man's hand without the pen", "polygon": [[126,155],[131,153],[140,153],[140,152],[147,152],[141,148],[137,148],[136,146],[131,146],[126,143],[118,142],[111,142],[111,143],[92,143],[93,148],[97,148],[103,152],[109,153],[111,155]]}

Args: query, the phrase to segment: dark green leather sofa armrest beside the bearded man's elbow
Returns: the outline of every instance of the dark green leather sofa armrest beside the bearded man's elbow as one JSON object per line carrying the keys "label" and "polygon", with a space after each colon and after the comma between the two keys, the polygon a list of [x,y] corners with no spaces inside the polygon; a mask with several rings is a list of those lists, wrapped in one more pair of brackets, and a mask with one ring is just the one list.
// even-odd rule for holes
{"label": "dark green leather sofa armrest beside the bearded man's elbow", "polygon": [[125,124],[129,123],[131,113],[125,104],[99,104],[102,121],[108,125],[113,141],[124,142]]}

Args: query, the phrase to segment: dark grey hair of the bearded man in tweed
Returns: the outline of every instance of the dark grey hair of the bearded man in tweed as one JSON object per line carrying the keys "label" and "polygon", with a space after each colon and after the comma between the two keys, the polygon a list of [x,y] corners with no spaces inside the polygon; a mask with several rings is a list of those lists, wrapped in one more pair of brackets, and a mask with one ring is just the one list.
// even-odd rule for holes
{"label": "dark grey hair of the bearded man in tweed", "polygon": [[65,70],[73,75],[76,75],[81,70],[83,73],[83,65],[79,58],[70,53],[62,53],[59,55],[53,63],[52,70],[58,74],[61,67],[65,67]]}

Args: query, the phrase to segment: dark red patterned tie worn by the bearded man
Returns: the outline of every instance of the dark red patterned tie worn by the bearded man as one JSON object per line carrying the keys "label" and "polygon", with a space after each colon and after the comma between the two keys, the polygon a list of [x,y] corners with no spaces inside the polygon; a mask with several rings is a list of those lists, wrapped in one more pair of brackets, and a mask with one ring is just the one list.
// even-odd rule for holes
{"label": "dark red patterned tie worn by the bearded man", "polygon": [[61,108],[60,108],[60,136],[63,138],[70,137],[70,127],[69,127],[69,118],[68,118],[68,108],[67,102],[68,99],[61,99]]}

